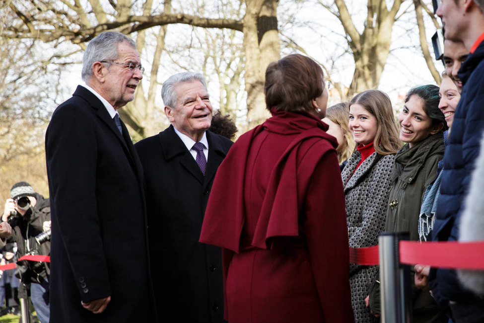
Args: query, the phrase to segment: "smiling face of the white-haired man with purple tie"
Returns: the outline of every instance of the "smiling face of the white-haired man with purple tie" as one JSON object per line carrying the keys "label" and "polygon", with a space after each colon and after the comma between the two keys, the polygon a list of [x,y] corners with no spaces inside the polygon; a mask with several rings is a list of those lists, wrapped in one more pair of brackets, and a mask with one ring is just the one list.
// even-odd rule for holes
{"label": "smiling face of the white-haired man with purple tie", "polygon": [[165,114],[173,127],[198,142],[212,120],[207,89],[200,81],[190,81],[175,85],[175,92],[176,106],[165,106]]}

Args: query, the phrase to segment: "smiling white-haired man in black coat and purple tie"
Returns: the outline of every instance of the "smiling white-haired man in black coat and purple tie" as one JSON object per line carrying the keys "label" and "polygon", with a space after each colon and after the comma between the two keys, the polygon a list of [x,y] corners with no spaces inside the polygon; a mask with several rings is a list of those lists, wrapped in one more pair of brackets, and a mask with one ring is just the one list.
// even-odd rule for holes
{"label": "smiling white-haired man in black coat and purple tie", "polygon": [[202,74],[171,76],[161,97],[171,125],[135,145],[160,323],[222,323],[221,250],[199,237],[215,172],[232,142],[207,131],[212,106]]}

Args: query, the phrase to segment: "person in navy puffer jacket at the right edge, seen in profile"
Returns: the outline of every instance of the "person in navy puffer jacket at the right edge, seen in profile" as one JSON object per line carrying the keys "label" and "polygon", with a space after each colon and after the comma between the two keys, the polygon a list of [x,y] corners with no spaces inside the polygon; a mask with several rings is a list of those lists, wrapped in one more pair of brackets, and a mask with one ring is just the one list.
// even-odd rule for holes
{"label": "person in navy puffer jacket at the right edge, seen in profile", "polygon": [[[483,0],[445,0],[437,9],[445,24],[445,38],[462,41],[470,54],[458,73],[463,90],[445,149],[440,198],[431,234],[434,241],[458,240],[464,198],[480,151],[484,129],[483,11]],[[440,306],[450,306],[455,322],[484,322],[484,299],[463,288],[455,270],[431,268],[429,287]]]}

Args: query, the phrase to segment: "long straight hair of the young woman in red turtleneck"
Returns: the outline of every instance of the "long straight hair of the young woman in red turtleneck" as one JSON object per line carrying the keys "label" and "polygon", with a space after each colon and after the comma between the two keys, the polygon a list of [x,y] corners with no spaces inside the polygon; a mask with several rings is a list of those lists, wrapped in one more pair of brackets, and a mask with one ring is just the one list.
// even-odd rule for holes
{"label": "long straight hair of the young woman in red turtleneck", "polygon": [[354,103],[362,105],[376,117],[378,130],[373,141],[375,151],[380,155],[396,154],[402,142],[388,95],[380,90],[366,90],[356,94],[349,105]]}

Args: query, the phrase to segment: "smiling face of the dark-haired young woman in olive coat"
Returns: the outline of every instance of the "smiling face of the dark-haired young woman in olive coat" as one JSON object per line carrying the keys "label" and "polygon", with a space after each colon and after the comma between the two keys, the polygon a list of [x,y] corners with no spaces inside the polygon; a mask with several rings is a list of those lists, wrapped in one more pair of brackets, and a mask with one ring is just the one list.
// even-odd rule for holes
{"label": "smiling face of the dark-haired young woman in olive coat", "polygon": [[405,103],[398,123],[400,140],[410,144],[410,148],[438,132],[438,127],[432,126],[432,119],[423,110],[423,100],[417,95],[412,95]]}

